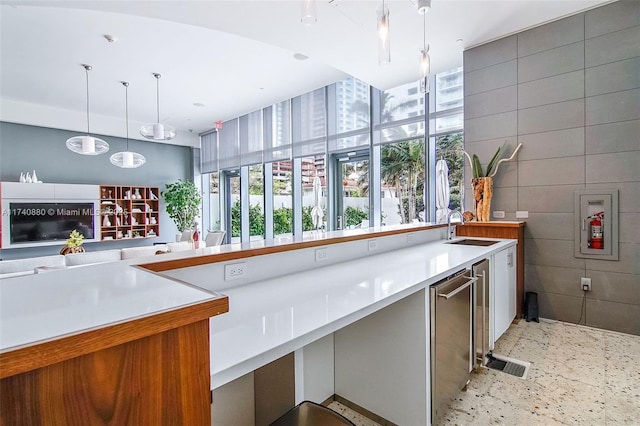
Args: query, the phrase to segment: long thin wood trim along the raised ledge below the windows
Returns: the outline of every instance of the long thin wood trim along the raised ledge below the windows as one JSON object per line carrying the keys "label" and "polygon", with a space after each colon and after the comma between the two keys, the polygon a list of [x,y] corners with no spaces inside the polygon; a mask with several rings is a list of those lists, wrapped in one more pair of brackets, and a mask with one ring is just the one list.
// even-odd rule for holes
{"label": "long thin wood trim along the raised ledge below the windows", "polygon": [[369,238],[388,237],[392,235],[407,234],[410,232],[426,231],[446,227],[447,225],[431,225],[406,229],[394,229],[389,231],[374,231],[363,234],[347,235],[342,237],[330,237],[324,240],[300,241],[283,245],[260,247],[247,250],[237,250],[225,253],[209,254],[204,256],[186,257],[183,259],[166,260],[161,262],[153,262],[138,265],[141,268],[154,272],[171,271],[173,269],[188,268],[191,266],[201,266],[216,262],[226,262],[230,260],[246,259],[254,256],[262,256],[266,254],[283,253],[292,250],[301,250],[312,247],[326,246],[330,244],[348,243],[351,241],[366,240]]}

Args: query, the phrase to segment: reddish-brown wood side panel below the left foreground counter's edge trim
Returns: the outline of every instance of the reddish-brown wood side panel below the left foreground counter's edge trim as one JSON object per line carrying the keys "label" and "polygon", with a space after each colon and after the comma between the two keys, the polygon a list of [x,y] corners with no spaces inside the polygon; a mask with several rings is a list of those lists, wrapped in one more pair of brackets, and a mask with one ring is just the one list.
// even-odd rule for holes
{"label": "reddish-brown wood side panel below the left foreground counter's edge trim", "polygon": [[209,320],[0,380],[2,425],[211,426]]}

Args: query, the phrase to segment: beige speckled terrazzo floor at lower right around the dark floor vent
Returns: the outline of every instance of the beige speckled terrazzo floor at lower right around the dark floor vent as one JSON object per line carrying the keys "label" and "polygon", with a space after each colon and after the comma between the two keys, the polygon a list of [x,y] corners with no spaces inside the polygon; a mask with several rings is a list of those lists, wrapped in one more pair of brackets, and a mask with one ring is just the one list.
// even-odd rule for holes
{"label": "beige speckled terrazzo floor at lower right around the dark floor vent", "polygon": [[[522,320],[494,353],[530,362],[527,378],[477,370],[440,424],[640,425],[640,336]],[[337,402],[330,407],[358,426],[378,425]]]}

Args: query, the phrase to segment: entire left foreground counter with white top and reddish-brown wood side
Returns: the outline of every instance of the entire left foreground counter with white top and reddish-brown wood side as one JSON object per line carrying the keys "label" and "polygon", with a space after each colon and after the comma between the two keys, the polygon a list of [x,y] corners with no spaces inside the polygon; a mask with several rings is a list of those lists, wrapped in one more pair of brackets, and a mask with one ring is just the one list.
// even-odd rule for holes
{"label": "entire left foreground counter with white top and reddish-brown wood side", "polygon": [[0,424],[211,424],[226,296],[121,262],[0,286]]}

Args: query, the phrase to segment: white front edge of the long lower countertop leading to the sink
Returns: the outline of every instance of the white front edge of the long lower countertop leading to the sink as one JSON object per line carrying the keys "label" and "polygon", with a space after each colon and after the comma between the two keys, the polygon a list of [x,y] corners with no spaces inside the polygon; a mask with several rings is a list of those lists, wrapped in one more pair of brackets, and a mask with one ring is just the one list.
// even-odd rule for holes
{"label": "white front edge of the long lower countertop leading to the sink", "polygon": [[[298,336],[292,340],[289,340],[283,344],[277,345],[273,348],[268,349],[267,351],[264,351],[262,353],[256,354],[255,356],[243,360],[241,362],[239,362],[238,364],[235,364],[229,368],[226,368],[224,370],[221,371],[217,371],[215,373],[213,373],[214,368],[213,365],[211,366],[211,389],[216,389],[220,386],[223,386],[239,377],[244,376],[245,374],[248,374],[254,370],[256,370],[257,368],[260,368],[272,361],[277,360],[278,358],[283,357],[284,355],[287,355],[291,352],[294,352],[298,349],[303,348],[304,346],[322,338],[325,337],[329,334],[332,334],[334,332],[336,332],[337,330],[348,326],[349,324],[352,324],[376,311],[379,311],[401,299],[404,299],[407,296],[410,296],[414,293],[419,292],[420,290],[426,289],[428,288],[430,285],[458,272],[461,269],[465,269],[465,268],[470,268],[471,265],[473,265],[474,263],[482,260],[482,259],[486,259],[487,256],[490,256],[494,253],[497,253],[505,248],[511,247],[511,246],[515,246],[517,244],[517,240],[513,240],[513,239],[499,239],[499,238],[485,238],[485,237],[458,237],[455,238],[452,241],[455,240],[463,240],[463,239],[474,239],[474,240],[490,240],[490,241],[500,241],[498,244],[494,244],[491,246],[486,246],[486,247],[475,247],[476,249],[478,248],[482,248],[483,250],[478,250],[478,254],[476,254],[473,257],[470,257],[469,260],[460,263],[457,266],[451,267],[450,269],[448,269],[445,272],[442,272],[440,274],[437,274],[435,276],[432,276],[424,281],[420,281],[418,283],[415,283],[413,285],[410,285],[409,287],[405,288],[404,290],[401,290],[397,293],[394,293],[380,301],[377,301],[375,303],[372,303],[371,305],[368,305],[358,311],[355,311],[351,314],[348,314],[346,316],[343,316],[331,323],[328,323],[322,327],[319,327],[317,329],[311,330],[306,334],[303,334],[301,336]],[[447,244],[447,242],[443,241],[442,244]],[[259,284],[259,283],[257,283]],[[254,284],[255,285],[255,284]],[[214,335],[214,331],[213,328],[211,328],[210,330],[210,334],[211,334],[211,343],[213,344],[213,335]]]}

